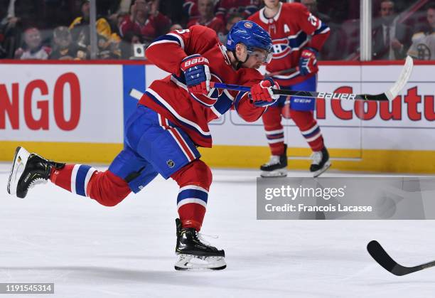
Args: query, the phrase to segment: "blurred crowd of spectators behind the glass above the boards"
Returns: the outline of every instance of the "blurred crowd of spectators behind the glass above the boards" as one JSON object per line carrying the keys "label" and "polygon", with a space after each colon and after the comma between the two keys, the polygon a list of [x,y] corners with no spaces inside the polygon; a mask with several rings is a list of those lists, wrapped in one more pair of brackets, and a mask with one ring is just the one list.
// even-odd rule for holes
{"label": "blurred crowd of spectators behind the glass above the boards", "polygon": [[[331,27],[321,60],[358,60],[360,0],[299,0]],[[372,58],[435,60],[435,0],[373,0]],[[97,0],[97,59],[144,58],[168,31],[208,26],[225,42],[262,0]],[[90,1],[0,0],[0,58],[90,59]],[[140,52],[140,50],[139,50]]]}

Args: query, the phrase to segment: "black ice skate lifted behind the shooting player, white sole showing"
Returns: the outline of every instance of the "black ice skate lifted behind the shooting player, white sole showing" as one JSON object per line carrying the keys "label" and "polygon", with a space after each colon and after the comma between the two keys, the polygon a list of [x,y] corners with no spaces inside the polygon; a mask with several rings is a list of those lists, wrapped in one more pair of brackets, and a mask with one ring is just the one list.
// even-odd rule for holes
{"label": "black ice skate lifted behind the shooting player, white sole showing", "polygon": [[49,161],[37,154],[28,153],[23,147],[17,147],[9,174],[8,193],[24,198],[28,188],[47,182],[53,166],[56,169],[62,169],[65,164]]}

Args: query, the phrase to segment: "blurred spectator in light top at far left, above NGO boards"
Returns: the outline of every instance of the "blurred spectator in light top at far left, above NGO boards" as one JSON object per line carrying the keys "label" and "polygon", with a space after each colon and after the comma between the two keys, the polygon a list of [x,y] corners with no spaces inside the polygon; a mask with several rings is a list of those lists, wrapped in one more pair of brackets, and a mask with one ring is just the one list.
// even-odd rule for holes
{"label": "blurred spectator in light top at far left, above NGO boards", "polygon": [[24,46],[15,51],[16,59],[38,59],[47,60],[51,49],[43,46],[41,40],[41,32],[37,28],[28,28],[24,32]]}

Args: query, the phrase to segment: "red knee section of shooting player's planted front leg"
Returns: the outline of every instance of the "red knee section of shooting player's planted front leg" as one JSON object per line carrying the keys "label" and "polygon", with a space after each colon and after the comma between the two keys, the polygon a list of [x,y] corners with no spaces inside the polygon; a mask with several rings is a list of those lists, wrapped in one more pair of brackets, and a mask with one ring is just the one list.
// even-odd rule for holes
{"label": "red knee section of shooting player's planted front leg", "polygon": [[178,186],[196,185],[209,189],[212,183],[212,172],[207,164],[200,159],[195,159],[190,164],[176,171],[171,178],[177,181]]}

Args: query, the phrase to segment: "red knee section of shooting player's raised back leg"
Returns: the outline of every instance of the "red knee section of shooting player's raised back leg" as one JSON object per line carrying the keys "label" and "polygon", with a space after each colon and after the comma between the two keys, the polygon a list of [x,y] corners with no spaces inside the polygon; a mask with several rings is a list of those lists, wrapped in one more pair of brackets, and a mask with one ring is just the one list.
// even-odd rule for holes
{"label": "red knee section of shooting player's raised back leg", "polygon": [[124,179],[111,171],[96,171],[87,184],[87,193],[98,203],[112,207],[124,200],[131,192]]}

